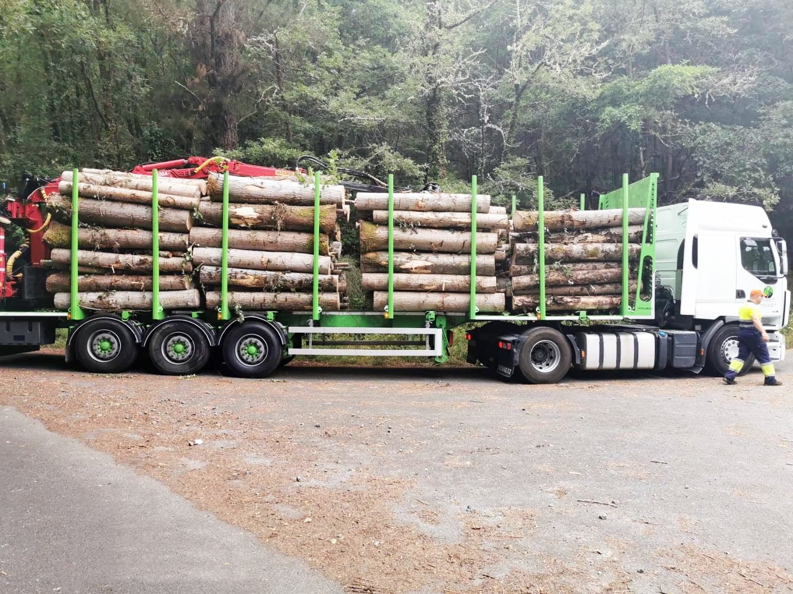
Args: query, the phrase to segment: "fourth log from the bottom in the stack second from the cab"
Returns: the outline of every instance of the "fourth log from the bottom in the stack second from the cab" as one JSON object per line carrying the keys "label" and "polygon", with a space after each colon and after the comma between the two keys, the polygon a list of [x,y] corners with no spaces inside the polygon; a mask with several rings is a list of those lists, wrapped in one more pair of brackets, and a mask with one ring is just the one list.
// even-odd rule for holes
{"label": "fourth log from the bottom in the stack second from the cab", "polygon": [[[358,230],[362,252],[375,252],[388,249],[389,229],[368,221],[361,221]],[[450,231],[447,229],[394,229],[394,249],[409,249],[419,252],[461,253],[471,251],[470,231]],[[477,253],[495,253],[498,235],[477,233]]]}

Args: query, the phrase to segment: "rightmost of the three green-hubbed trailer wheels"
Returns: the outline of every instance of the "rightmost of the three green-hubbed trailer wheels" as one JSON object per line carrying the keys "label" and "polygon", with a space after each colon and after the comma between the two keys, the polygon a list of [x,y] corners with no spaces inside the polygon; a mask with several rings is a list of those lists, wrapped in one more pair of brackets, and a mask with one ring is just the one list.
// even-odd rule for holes
{"label": "rightmost of the three green-hubbed trailer wheels", "polygon": [[221,345],[223,360],[234,375],[263,378],[278,369],[283,347],[278,335],[262,322],[243,322],[228,332]]}

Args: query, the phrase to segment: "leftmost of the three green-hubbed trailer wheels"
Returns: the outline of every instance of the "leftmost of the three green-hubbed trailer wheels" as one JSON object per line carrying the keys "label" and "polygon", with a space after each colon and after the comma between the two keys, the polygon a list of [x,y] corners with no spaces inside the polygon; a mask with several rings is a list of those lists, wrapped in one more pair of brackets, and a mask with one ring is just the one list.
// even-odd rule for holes
{"label": "leftmost of the three green-hubbed trailer wheels", "polygon": [[90,318],[77,329],[75,357],[92,373],[121,373],[138,358],[135,334],[121,320]]}

